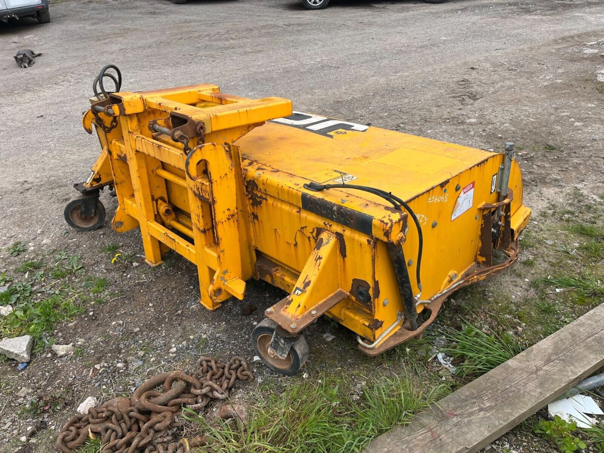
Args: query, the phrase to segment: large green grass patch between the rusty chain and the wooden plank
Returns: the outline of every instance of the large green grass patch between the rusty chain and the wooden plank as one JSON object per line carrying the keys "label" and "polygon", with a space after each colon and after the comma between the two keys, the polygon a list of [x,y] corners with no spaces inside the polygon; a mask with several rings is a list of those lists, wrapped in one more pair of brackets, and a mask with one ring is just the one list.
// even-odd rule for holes
{"label": "large green grass patch between the rusty chain and the wooden plank", "polygon": [[193,411],[185,410],[185,417],[199,422],[213,452],[343,453],[360,451],[382,432],[408,423],[445,393],[442,385],[422,385],[418,376],[374,373],[373,379],[358,400],[334,376],[294,377],[282,390],[261,388],[266,399],[249,407],[247,432],[233,423],[210,425]]}

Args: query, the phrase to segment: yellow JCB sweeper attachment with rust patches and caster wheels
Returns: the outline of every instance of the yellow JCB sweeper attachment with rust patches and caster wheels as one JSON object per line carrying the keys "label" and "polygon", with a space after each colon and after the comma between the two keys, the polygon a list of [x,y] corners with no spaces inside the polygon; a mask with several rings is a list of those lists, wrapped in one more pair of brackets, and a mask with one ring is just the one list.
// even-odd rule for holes
{"label": "yellow JCB sweeper attachment with rust patches and caster wheels", "polygon": [[377,355],[518,257],[530,210],[513,144],[486,152],[214,85],[111,93],[106,77],[83,117],[103,150],[68,223],[98,228],[109,186],[114,229],[140,228],[151,266],[169,249],[197,265],[207,309],[242,300],[251,277],[289,292],[252,332],[275,371],[300,370],[321,315]]}

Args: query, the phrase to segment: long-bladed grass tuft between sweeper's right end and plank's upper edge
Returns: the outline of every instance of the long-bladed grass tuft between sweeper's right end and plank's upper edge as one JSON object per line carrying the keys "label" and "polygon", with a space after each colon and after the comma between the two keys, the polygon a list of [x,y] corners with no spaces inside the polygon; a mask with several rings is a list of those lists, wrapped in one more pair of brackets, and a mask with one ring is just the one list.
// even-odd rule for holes
{"label": "long-bladed grass tuft between sweeper's right end and plank's upper edge", "polygon": [[522,345],[507,332],[489,335],[466,324],[461,330],[448,327],[439,334],[446,340],[444,346],[439,345],[439,352],[462,360],[455,365],[461,377],[486,373],[522,352]]}

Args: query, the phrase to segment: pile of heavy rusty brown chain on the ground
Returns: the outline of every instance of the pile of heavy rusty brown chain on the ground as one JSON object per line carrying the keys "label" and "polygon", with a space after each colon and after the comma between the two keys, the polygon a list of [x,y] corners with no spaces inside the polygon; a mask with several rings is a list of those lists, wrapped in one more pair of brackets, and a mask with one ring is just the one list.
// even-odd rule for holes
{"label": "pile of heavy rusty brown chain on the ground", "polygon": [[[71,453],[87,438],[100,438],[103,453],[174,453],[206,445],[205,437],[176,439],[183,422],[175,417],[182,407],[201,413],[212,400],[224,400],[236,381],[252,381],[248,362],[234,356],[228,363],[202,357],[197,371],[168,371],[152,377],[132,397],[118,397],[91,408],[88,414],[71,417],[65,423],[56,446]],[[153,390],[162,385],[163,391]],[[226,405],[218,414],[223,419],[239,418],[245,426],[243,406]]]}

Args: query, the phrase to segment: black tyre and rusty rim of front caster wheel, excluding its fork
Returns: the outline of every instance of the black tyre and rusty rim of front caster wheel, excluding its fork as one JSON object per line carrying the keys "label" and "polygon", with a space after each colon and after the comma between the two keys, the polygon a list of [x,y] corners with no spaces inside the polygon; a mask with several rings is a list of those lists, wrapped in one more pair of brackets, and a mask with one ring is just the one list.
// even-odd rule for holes
{"label": "black tyre and rusty rim of front caster wheel, excluding its fork", "polygon": [[302,365],[304,365],[309,356],[308,344],[306,343],[306,339],[304,339],[304,335],[298,335],[297,341],[292,344],[285,359],[269,356],[268,347],[271,344],[272,334],[277,327],[278,324],[275,321],[265,318],[254,327],[252,331],[252,344],[254,345],[255,352],[267,367],[273,371],[277,371],[277,373],[293,376],[300,371],[300,368],[302,368]]}

